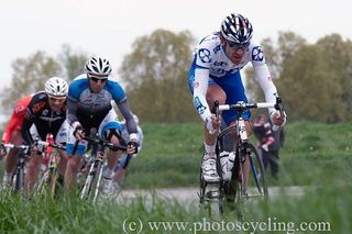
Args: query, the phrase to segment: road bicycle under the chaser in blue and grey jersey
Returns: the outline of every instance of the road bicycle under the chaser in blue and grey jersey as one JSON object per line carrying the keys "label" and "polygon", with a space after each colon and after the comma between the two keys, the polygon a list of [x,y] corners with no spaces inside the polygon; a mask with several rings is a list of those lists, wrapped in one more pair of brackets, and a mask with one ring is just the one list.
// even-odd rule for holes
{"label": "road bicycle under the chaser in blue and grey jersey", "polygon": [[127,146],[114,146],[109,141],[106,141],[99,135],[94,137],[84,137],[91,146],[90,157],[88,161],[88,175],[85,183],[79,192],[79,198],[82,200],[91,199],[95,203],[97,201],[99,191],[101,190],[102,171],[106,163],[106,149],[127,151]]}

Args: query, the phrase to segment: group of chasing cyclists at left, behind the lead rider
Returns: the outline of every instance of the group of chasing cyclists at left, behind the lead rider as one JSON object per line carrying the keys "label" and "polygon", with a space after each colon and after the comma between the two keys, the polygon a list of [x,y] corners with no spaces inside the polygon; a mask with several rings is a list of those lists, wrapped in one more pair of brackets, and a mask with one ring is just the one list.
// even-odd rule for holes
{"label": "group of chasing cyclists at left, behind the lead rider", "polygon": [[[91,57],[85,68],[87,73],[76,77],[69,85],[63,78],[50,78],[43,91],[24,97],[13,110],[2,143],[31,146],[24,178],[26,191],[31,191],[37,181],[42,165],[43,148],[34,144],[35,140],[45,141],[47,134],[53,135],[55,144],[66,146],[66,151],[59,151],[57,171],[67,194],[76,188],[77,174],[88,144],[85,136],[90,132],[96,132],[114,146],[127,145],[125,153],[129,155],[138,153],[142,130],[131,112],[124,90],[110,77],[110,63],[101,57]],[[119,122],[112,101],[119,108],[123,122]],[[1,154],[6,153],[2,149]],[[116,192],[116,167],[122,152],[110,148],[107,154],[102,192],[112,194]],[[15,164],[16,149],[12,148],[6,157],[6,186],[11,181]]]}

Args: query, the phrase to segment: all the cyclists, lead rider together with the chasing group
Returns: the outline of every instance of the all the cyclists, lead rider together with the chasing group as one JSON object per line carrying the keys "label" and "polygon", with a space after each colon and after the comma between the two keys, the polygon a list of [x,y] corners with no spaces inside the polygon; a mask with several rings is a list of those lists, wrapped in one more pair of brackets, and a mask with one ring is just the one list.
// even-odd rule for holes
{"label": "all the cyclists, lead rider together with the chasing group", "polygon": [[[216,116],[211,107],[216,100],[220,104],[235,104],[248,102],[240,70],[249,63],[253,65],[256,80],[264,91],[267,102],[275,102],[277,90],[271,78],[265,63],[263,48],[252,40],[253,27],[242,14],[231,13],[224,18],[220,31],[200,41],[194,53],[194,60],[189,70],[189,89],[193,93],[195,109],[204,120],[205,155],[202,175],[206,181],[220,180],[216,165],[216,140],[221,120],[227,125],[237,120],[234,111],[227,111]],[[120,145],[127,142],[128,154],[136,154],[139,148],[138,124],[133,119],[128,98],[121,86],[111,79],[111,66],[105,58],[92,57],[86,64],[87,73],[79,75],[68,83],[58,77],[51,78],[45,83],[45,91],[30,94],[21,100],[15,108],[12,125],[12,138],[6,130],[3,142],[15,144],[32,144],[35,136],[45,138],[52,133],[56,144],[67,142],[66,152],[62,152],[59,174],[64,177],[65,191],[69,192],[77,181],[77,171],[82,155],[87,148],[85,134],[95,130],[98,134]],[[121,123],[117,121],[117,113],[111,105],[114,101],[124,118],[127,136],[121,135]],[[282,126],[286,122],[286,114],[275,109],[268,109],[272,123]],[[246,131],[251,134],[251,113],[246,111]],[[11,120],[12,121],[12,120]],[[20,126],[23,121],[22,127]],[[21,130],[21,133],[20,133]],[[21,138],[22,137],[22,138]],[[237,136],[233,134],[235,145]],[[35,182],[40,157],[35,156],[38,148],[33,148],[29,161],[28,186]],[[121,152],[109,151],[108,166],[105,170],[103,191],[112,192],[116,168],[119,168]],[[4,174],[4,182],[9,180],[15,158],[9,153]],[[249,164],[245,164],[249,174]]]}

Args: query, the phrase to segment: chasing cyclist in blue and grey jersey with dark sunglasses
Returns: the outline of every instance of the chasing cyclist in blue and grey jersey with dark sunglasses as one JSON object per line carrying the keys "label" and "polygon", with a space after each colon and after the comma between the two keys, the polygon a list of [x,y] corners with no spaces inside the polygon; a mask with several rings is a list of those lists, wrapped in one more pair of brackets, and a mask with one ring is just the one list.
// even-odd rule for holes
{"label": "chasing cyclist in blue and grey jersey with dark sunglasses", "polygon": [[[114,101],[127,122],[129,132],[128,154],[138,152],[138,129],[133,120],[128,98],[122,87],[110,77],[110,63],[100,57],[92,57],[86,64],[87,73],[78,76],[69,86],[67,98],[67,121],[69,123],[67,153],[70,156],[65,171],[65,191],[77,181],[77,172],[81,156],[87,148],[82,140],[86,133],[97,132],[99,136],[120,145],[121,130],[117,121],[117,113],[112,109]],[[78,144],[76,144],[78,141]],[[121,152],[108,152],[108,168],[105,171],[103,193],[114,192],[112,178],[114,167]]]}

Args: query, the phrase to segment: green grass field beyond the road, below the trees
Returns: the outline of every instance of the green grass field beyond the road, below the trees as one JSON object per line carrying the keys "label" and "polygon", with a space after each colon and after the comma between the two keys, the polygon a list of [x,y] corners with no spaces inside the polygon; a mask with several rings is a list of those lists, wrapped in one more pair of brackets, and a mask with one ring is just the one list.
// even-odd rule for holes
{"label": "green grass field beyond the road, below the trees", "polygon": [[[197,186],[201,125],[144,124],[143,130],[144,145],[130,165],[127,187]],[[289,123],[285,133],[278,185],[343,183],[351,178],[352,124]]]}

